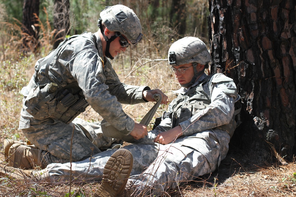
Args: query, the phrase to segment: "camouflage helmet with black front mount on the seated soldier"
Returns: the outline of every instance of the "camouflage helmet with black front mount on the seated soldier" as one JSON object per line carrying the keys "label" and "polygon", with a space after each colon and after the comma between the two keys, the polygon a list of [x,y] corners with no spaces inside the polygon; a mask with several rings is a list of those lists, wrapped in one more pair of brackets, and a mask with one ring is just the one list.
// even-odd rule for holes
{"label": "camouflage helmet with black front mount on the seated soldier", "polygon": [[168,51],[168,62],[171,66],[194,62],[206,65],[210,60],[210,53],[205,43],[195,37],[185,37],[177,40]]}

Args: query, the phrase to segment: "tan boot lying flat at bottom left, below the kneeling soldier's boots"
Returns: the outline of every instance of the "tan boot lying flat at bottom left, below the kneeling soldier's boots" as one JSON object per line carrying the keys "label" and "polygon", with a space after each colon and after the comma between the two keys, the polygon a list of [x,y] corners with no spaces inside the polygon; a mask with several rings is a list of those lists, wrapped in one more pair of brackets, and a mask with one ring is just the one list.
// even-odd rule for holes
{"label": "tan boot lying flat at bottom left, below the kneeling soldier's boots", "polygon": [[43,170],[22,170],[15,167],[10,167],[4,164],[0,164],[0,176],[7,176],[14,180],[33,180],[41,181],[44,180],[50,183],[50,176],[47,169]]}

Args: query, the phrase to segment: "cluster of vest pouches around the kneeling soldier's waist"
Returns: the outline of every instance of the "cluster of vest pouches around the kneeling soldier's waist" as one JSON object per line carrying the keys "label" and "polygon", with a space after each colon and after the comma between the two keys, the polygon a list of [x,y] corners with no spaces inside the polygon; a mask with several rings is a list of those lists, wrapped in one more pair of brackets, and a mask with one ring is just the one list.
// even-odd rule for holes
{"label": "cluster of vest pouches around the kneeling soldier's waist", "polygon": [[52,118],[69,124],[89,105],[77,82],[55,92],[48,87],[50,84],[34,87],[25,98],[24,108],[34,118]]}

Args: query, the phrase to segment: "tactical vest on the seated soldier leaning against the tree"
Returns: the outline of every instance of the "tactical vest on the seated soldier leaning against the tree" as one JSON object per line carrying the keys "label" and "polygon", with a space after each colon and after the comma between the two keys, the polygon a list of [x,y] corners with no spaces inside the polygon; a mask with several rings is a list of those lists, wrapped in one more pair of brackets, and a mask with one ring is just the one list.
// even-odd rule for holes
{"label": "tactical vest on the seated soldier leaning against the tree", "polygon": [[[184,95],[179,94],[178,97],[173,101],[173,111],[170,114],[164,113],[163,117],[161,117],[162,119],[166,117],[171,118],[171,128],[178,126],[179,123],[188,120],[190,117],[199,113],[201,110],[207,108],[207,106],[210,105],[210,96],[207,95],[202,86],[208,83],[211,77],[212,75],[206,76],[199,85],[189,89],[189,91],[186,92]],[[241,123],[239,116],[241,105],[239,101],[235,103],[234,107],[235,111],[230,123],[217,127],[218,129],[226,131],[230,135],[230,137],[232,137],[235,128],[237,128],[237,126]],[[160,120],[158,121],[160,122]],[[156,126],[157,125],[154,125],[153,129]]]}

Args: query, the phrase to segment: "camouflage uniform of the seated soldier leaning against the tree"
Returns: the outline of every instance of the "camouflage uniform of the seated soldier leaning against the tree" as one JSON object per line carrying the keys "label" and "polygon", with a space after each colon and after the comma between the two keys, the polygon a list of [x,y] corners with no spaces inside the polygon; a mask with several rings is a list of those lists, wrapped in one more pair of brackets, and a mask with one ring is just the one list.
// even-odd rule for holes
{"label": "camouflage uniform of the seated soldier leaning against the tree", "polygon": [[[128,186],[137,194],[158,196],[182,181],[213,172],[228,152],[236,128],[234,103],[240,98],[233,80],[223,74],[202,74],[192,87],[176,93],[178,97],[170,103],[160,125],[138,144],[124,147],[133,154]],[[182,127],[182,137],[167,145],[153,142],[159,132],[177,125]],[[72,163],[73,178],[100,181],[113,152],[107,150],[91,161]],[[52,182],[70,178],[70,163],[51,164],[47,170]]]}

